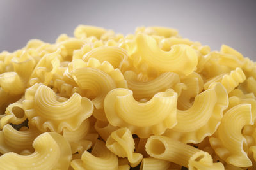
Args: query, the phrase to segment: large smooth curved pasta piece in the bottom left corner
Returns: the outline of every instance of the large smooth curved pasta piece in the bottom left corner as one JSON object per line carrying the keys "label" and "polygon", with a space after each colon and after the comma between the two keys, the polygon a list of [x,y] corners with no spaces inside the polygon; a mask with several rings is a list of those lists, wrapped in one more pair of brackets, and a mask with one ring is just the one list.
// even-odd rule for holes
{"label": "large smooth curved pasta piece in the bottom left corner", "polygon": [[68,141],[60,134],[46,132],[33,142],[35,152],[19,155],[9,152],[1,155],[1,169],[68,169],[71,149]]}

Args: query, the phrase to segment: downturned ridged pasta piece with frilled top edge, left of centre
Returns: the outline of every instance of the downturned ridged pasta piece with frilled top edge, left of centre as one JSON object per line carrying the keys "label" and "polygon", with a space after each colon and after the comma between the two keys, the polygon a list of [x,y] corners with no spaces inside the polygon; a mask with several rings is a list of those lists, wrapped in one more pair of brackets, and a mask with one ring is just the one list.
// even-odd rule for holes
{"label": "downturned ridged pasta piece with frilled top edge, left of centre", "polygon": [[[81,60],[80,60],[81,61]],[[70,66],[71,67],[71,66]],[[95,108],[103,108],[104,97],[116,87],[127,88],[127,83],[119,69],[114,69],[109,62],[90,58],[88,62],[77,60],[72,66],[71,75],[82,90],[88,90]],[[89,97],[89,96],[88,96]]]}

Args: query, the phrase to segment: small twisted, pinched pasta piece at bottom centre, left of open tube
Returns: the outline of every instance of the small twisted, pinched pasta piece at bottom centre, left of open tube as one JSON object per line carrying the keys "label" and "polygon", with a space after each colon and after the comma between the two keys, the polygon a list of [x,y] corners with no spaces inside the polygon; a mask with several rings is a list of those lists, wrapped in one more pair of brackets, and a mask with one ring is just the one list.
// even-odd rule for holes
{"label": "small twisted, pinched pasta piece at bottom centre, left of open tube", "polygon": [[140,153],[134,153],[135,143],[131,132],[126,127],[112,132],[106,141],[106,146],[118,157],[127,157],[131,167],[138,166],[143,159]]}

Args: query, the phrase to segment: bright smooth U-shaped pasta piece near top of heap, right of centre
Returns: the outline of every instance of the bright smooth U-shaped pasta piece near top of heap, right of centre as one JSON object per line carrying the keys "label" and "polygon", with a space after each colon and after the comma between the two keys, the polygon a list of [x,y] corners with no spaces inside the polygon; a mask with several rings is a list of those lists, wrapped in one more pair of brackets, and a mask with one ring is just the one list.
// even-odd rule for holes
{"label": "bright smooth U-shaped pasta piece near top of heap, right of centre", "polygon": [[198,56],[188,45],[173,45],[169,52],[164,52],[154,38],[145,34],[138,34],[136,41],[141,60],[157,71],[187,76],[196,70]]}

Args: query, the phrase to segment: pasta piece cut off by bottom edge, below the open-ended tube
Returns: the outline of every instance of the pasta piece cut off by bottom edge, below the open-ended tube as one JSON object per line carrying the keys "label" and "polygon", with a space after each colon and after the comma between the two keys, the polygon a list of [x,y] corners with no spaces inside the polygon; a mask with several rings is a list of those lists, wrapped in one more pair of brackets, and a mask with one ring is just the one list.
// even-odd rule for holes
{"label": "pasta piece cut off by bottom edge, below the open-ended tube", "polygon": [[170,167],[171,162],[167,160],[161,160],[156,158],[143,158],[140,164],[140,170],[168,170]]}

